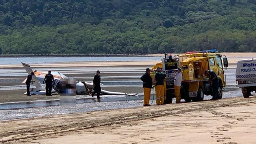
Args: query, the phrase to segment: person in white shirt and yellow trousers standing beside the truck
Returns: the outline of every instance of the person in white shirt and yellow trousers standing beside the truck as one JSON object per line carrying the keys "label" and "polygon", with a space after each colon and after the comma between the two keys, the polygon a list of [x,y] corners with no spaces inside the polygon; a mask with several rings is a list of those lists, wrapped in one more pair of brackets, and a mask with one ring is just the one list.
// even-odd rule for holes
{"label": "person in white shirt and yellow trousers standing beside the truck", "polygon": [[174,93],[176,97],[176,103],[180,103],[180,85],[182,81],[182,73],[181,73],[181,68],[177,68],[174,70],[175,77],[174,77]]}

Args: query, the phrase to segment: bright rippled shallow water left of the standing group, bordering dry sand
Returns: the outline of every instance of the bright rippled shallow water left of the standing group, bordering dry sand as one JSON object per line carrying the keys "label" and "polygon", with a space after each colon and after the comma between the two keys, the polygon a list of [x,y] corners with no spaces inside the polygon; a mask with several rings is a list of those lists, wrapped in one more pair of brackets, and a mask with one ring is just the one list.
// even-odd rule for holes
{"label": "bright rippled shallow water left of the standing group, bordering dry sand", "polygon": [[[141,106],[143,100],[126,100],[116,102],[82,103],[71,106],[37,107],[26,109],[9,109],[0,111],[0,120],[50,116],[56,114],[81,113],[105,109],[120,109]],[[125,104],[124,104],[125,103]]]}

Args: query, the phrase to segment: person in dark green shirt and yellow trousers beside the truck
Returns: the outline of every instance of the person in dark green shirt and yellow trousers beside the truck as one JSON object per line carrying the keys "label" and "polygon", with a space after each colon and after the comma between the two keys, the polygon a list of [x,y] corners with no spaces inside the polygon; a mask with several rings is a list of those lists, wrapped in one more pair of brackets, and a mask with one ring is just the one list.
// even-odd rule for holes
{"label": "person in dark green shirt and yellow trousers beside the truck", "polygon": [[157,68],[157,72],[154,74],[154,83],[156,86],[156,105],[161,105],[164,102],[164,79],[165,73],[161,72],[161,67]]}

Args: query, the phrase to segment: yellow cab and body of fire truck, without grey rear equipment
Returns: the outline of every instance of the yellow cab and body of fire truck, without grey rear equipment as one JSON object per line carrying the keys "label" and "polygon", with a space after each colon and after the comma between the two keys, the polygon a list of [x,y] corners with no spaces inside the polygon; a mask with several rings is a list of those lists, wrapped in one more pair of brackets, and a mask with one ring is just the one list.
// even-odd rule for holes
{"label": "yellow cab and body of fire truck, without grey rear equipment", "polygon": [[211,95],[212,86],[204,71],[213,70],[219,79],[218,99],[222,98],[223,87],[226,86],[224,67],[228,66],[227,58],[217,50],[205,50],[199,52],[187,52],[180,55],[180,67],[182,68],[181,96],[186,102],[202,101],[205,95]]}

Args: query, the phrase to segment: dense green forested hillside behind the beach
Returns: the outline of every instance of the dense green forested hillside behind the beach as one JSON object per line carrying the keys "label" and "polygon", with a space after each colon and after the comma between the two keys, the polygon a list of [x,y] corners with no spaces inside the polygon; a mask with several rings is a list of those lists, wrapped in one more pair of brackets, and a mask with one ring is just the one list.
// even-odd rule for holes
{"label": "dense green forested hillside behind the beach", "polygon": [[0,54],[256,52],[255,0],[0,0]]}

